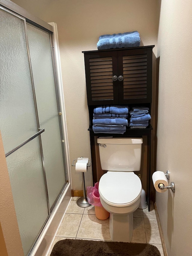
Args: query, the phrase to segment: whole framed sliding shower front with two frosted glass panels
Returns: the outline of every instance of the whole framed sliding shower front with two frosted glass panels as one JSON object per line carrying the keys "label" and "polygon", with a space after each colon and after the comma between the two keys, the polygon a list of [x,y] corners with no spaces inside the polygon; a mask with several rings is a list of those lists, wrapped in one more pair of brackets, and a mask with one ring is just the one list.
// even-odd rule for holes
{"label": "whole framed sliding shower front with two frosted glass panels", "polygon": [[29,255],[68,182],[54,35],[49,24],[2,2],[0,130],[22,246]]}

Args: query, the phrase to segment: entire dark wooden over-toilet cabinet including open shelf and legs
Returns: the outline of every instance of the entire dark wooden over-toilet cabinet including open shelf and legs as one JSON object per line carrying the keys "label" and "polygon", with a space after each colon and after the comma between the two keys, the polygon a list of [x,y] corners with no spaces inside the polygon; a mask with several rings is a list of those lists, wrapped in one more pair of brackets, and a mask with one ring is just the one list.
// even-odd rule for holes
{"label": "entire dark wooden over-toilet cabinet including open shelf and legs", "polygon": [[95,134],[92,130],[93,110],[98,105],[129,105],[149,107],[152,103],[152,49],[154,45],[110,50],[83,51],[93,182],[97,182],[96,137],[147,136],[147,200],[150,210],[151,130],[126,128],[124,134]]}

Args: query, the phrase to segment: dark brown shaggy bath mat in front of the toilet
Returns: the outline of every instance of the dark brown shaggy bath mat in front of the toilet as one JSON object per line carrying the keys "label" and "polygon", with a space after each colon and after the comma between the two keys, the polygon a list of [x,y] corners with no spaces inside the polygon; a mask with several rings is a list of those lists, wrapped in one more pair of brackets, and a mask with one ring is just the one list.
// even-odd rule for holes
{"label": "dark brown shaggy bath mat in front of the toilet", "polygon": [[58,241],[50,256],[161,256],[154,245],[80,239]]}

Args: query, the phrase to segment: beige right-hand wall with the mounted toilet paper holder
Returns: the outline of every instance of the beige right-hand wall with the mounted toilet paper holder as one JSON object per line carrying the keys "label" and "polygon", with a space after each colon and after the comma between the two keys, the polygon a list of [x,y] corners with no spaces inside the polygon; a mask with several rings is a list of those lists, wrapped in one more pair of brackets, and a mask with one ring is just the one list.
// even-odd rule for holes
{"label": "beige right-hand wall with the mounted toilet paper holder", "polygon": [[157,170],[176,192],[156,193],[169,256],[192,251],[192,1],[159,1]]}

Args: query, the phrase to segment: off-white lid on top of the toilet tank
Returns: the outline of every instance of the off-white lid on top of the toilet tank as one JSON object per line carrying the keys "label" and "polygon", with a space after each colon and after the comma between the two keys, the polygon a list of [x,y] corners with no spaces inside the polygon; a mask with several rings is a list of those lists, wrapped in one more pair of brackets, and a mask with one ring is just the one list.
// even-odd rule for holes
{"label": "off-white lid on top of the toilet tank", "polygon": [[97,143],[101,144],[142,144],[143,138],[107,138],[99,137]]}

